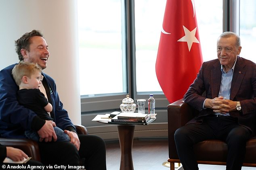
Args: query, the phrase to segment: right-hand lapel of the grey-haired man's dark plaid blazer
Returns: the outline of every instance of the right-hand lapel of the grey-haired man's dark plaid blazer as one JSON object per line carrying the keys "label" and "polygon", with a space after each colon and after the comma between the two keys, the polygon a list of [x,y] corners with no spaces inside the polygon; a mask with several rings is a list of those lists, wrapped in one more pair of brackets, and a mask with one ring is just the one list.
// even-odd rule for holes
{"label": "right-hand lapel of the grey-haired man's dark plaid blazer", "polygon": [[231,90],[230,90],[230,100],[233,100],[241,86],[243,81],[243,77],[246,74],[246,70],[243,69],[246,65],[241,61],[240,57],[237,58],[237,63],[235,66],[235,70],[233,73],[233,78],[231,82]]}

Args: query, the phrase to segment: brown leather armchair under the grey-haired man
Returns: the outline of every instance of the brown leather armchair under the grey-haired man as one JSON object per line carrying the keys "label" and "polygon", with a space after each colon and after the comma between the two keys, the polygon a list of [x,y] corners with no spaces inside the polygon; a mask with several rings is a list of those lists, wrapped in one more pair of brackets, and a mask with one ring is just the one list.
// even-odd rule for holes
{"label": "brown leather armchair under the grey-haired man", "polygon": [[[174,170],[174,162],[180,162],[174,132],[195,117],[198,111],[190,107],[183,99],[168,105],[168,148],[170,169]],[[194,145],[198,164],[226,165],[227,144],[220,140],[206,140]],[[243,166],[256,167],[256,139],[250,139],[246,144],[246,157]]]}

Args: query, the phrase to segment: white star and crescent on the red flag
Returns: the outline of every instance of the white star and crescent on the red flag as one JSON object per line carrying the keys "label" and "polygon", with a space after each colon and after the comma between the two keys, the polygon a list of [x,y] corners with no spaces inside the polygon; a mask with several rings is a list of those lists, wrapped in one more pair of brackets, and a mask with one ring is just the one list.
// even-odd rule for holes
{"label": "white star and crescent on the red flag", "polygon": [[[194,0],[191,0],[191,3],[192,3],[192,6],[193,6],[193,17],[195,17],[195,4],[194,4]],[[178,40],[179,42],[187,42],[189,51],[190,51],[193,43],[200,43],[198,41],[198,39],[195,37],[196,29],[197,29],[197,27],[195,27],[192,31],[189,31],[189,29],[187,29],[183,25],[183,30],[184,30],[185,36]],[[164,28],[162,28],[161,32],[164,33],[164,34],[167,34],[167,35],[171,34],[171,33],[166,32],[164,30]]]}

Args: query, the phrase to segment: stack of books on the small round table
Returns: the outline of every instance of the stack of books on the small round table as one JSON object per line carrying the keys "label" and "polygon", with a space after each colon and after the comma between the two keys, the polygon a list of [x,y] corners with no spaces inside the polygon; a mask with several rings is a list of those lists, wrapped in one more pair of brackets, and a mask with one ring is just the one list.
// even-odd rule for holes
{"label": "stack of books on the small round table", "polygon": [[155,120],[155,117],[151,116],[141,113],[120,113],[111,119],[111,124],[148,125]]}

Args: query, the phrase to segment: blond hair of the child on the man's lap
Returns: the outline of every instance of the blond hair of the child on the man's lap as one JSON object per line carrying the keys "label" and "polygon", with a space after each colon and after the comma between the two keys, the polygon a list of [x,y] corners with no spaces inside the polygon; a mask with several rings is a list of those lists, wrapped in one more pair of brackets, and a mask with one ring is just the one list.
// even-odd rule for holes
{"label": "blond hair of the child on the man's lap", "polygon": [[12,70],[13,78],[16,84],[19,86],[22,82],[22,77],[27,76],[31,78],[31,75],[36,71],[42,72],[42,68],[36,63],[28,63],[20,61]]}

